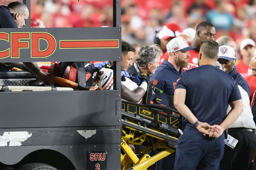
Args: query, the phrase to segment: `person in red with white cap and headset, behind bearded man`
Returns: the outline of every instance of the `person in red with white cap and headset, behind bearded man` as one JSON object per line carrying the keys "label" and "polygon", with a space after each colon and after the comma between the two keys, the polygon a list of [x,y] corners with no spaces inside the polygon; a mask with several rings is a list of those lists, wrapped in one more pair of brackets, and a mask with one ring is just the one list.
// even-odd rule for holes
{"label": "person in red with white cap and headset, behind bearded man", "polygon": [[[157,35],[156,35],[157,36]],[[163,55],[160,57],[160,62],[158,63],[161,65],[164,60],[168,60],[169,55],[166,49],[166,45],[168,42],[170,42],[173,38],[175,38],[175,34],[172,30],[167,28],[167,26],[163,26],[163,29],[161,29],[158,33],[158,37],[155,39],[159,39],[158,43],[155,42],[156,44],[159,45],[159,48],[162,50]]]}

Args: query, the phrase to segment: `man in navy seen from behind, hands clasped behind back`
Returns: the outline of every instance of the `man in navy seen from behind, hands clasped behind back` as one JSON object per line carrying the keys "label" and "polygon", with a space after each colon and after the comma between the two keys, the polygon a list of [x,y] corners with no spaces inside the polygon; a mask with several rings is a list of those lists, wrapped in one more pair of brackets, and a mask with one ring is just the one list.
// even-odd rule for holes
{"label": "man in navy seen from behind, hands clasped behind back", "polygon": [[199,67],[183,72],[177,81],[174,105],[184,116],[185,129],[177,144],[175,170],[218,169],[225,145],[223,131],[243,110],[235,80],[215,68],[218,51],[217,42],[203,41]]}

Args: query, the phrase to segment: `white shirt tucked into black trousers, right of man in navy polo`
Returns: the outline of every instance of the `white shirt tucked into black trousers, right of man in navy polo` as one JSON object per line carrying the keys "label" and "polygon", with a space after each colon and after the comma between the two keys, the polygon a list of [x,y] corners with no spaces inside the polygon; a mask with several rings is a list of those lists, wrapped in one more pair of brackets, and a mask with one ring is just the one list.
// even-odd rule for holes
{"label": "white shirt tucked into black trousers, right of man in navy polo", "polygon": [[[248,93],[240,85],[238,85],[238,88],[241,93],[244,109],[241,115],[236,119],[236,121],[232,123],[228,128],[247,128],[247,129],[256,130],[256,126],[253,121],[253,115],[250,107],[250,100],[249,100]],[[230,110],[231,110],[231,107],[228,105],[227,114]]]}

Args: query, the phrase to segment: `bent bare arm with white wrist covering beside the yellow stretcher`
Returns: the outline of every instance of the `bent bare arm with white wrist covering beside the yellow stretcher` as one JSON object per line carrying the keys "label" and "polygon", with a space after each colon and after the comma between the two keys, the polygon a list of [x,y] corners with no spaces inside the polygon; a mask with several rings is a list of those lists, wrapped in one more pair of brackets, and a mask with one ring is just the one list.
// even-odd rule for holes
{"label": "bent bare arm with white wrist covering beside the yellow stretcher", "polygon": [[142,82],[141,85],[133,91],[128,89],[125,85],[122,85],[122,93],[121,93],[122,99],[130,102],[138,103],[145,95],[146,90],[143,87],[145,85],[147,86],[147,83]]}

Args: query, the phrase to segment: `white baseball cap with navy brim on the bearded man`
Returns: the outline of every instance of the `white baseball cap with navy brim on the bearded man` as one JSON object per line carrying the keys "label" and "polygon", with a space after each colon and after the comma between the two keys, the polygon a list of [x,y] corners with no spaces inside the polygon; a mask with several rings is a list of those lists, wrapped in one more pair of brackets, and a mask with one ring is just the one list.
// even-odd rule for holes
{"label": "white baseball cap with navy brim on the bearded man", "polygon": [[184,38],[174,38],[166,45],[168,53],[173,51],[189,51],[192,49],[196,49],[196,47],[191,47],[188,45],[188,42]]}

